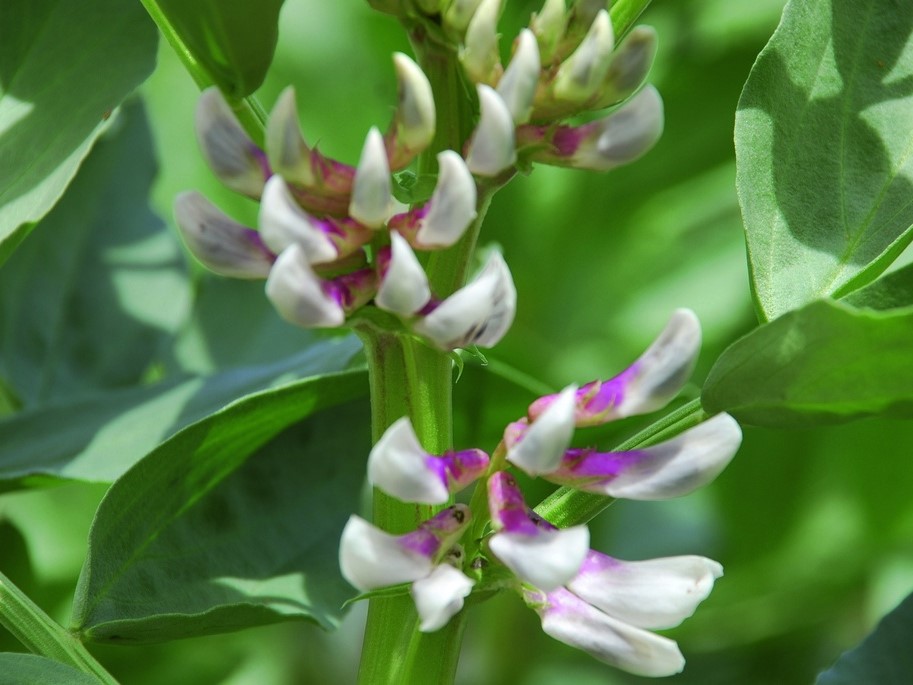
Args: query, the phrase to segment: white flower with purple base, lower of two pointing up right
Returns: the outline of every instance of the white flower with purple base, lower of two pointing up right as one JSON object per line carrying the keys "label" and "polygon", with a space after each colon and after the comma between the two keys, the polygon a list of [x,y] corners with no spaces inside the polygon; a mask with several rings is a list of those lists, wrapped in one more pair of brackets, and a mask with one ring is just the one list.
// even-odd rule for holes
{"label": "white flower with purple base, lower of two pointing up right", "polygon": [[735,419],[717,414],[671,440],[630,452],[569,450],[545,478],[622,499],[681,497],[716,478],[741,442]]}

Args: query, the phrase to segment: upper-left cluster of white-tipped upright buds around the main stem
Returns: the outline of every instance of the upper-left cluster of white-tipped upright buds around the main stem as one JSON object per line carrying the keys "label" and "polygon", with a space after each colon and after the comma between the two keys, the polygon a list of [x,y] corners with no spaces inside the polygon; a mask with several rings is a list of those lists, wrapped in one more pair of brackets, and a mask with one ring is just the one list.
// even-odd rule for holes
{"label": "upper-left cluster of white-tipped upright buds around the main stem", "polygon": [[516,307],[501,255],[492,252],[475,280],[443,299],[431,291],[416,256],[453,245],[475,220],[472,160],[441,152],[437,183],[424,204],[407,209],[392,194],[392,173],[430,144],[435,129],[424,73],[405,55],[396,54],[394,63],[396,114],[385,135],[369,131],[356,167],[306,144],[292,89],[269,117],[265,150],[217,89],[205,91],[196,117],[204,156],[229,188],[260,201],[259,230],[196,192],[176,200],[178,225],[190,250],[213,271],[265,278],[267,296],[294,324],[340,326],[373,303],[441,349],[491,346],[509,328]]}

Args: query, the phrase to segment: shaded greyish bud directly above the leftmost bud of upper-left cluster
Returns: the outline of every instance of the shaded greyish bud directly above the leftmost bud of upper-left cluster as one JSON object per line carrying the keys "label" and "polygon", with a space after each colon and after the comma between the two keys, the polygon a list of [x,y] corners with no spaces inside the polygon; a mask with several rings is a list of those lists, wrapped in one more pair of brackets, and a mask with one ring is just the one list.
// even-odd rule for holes
{"label": "shaded greyish bud directly above the leftmost bud of upper-left cluster", "polygon": [[203,156],[216,176],[232,190],[259,198],[266,182],[263,153],[217,87],[207,88],[200,96],[195,124]]}

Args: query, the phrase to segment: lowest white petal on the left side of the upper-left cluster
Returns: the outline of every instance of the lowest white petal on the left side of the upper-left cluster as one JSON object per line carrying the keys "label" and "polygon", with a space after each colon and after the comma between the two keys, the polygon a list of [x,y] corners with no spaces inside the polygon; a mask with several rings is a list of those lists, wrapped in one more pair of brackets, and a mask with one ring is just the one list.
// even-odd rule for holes
{"label": "lowest white petal on the left side of the upper-left cluster", "polygon": [[345,311],[323,290],[298,245],[276,259],[266,281],[266,296],[286,321],[305,328],[341,326]]}

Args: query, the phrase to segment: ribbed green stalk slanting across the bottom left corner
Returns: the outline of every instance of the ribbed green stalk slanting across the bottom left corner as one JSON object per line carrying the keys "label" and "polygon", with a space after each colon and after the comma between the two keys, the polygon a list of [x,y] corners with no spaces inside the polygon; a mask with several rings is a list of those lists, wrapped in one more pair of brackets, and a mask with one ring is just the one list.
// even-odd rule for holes
{"label": "ribbed green stalk slanting across the bottom left corner", "polygon": [[33,654],[95,676],[100,683],[117,685],[114,677],[89,650],[0,572],[0,625]]}

